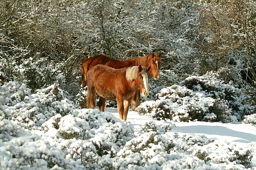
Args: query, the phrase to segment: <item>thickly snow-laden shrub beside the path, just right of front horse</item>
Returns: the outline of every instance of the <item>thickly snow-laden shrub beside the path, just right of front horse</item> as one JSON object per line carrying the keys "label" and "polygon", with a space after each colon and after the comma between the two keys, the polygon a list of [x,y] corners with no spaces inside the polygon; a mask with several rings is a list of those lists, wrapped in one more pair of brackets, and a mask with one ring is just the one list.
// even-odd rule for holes
{"label": "thickly snow-laden shrub beside the path, just right of front horse", "polygon": [[136,111],[158,120],[171,119],[188,122],[198,119],[201,121],[215,101],[215,99],[179,85],[161,89],[157,98],[156,101],[142,103]]}

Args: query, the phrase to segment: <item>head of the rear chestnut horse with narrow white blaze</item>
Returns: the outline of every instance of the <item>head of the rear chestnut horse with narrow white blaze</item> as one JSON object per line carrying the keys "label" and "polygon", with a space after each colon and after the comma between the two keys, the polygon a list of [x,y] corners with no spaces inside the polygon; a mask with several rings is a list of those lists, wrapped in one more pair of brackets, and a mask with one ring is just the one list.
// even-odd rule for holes
{"label": "head of the rear chestnut horse with narrow white blaze", "polygon": [[154,53],[148,57],[148,66],[151,66],[151,69],[148,71],[148,74],[153,75],[154,79],[160,78],[160,64],[161,64],[161,54],[155,55]]}

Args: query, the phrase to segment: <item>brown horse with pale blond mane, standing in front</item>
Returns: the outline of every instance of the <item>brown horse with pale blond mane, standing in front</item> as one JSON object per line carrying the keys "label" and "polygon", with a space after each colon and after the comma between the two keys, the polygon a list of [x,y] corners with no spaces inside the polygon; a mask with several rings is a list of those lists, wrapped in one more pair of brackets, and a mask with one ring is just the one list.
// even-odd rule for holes
{"label": "brown horse with pale blond mane, standing in front", "polygon": [[96,65],[87,74],[87,108],[96,107],[96,92],[101,97],[99,110],[104,111],[106,100],[116,100],[119,118],[126,120],[131,99],[137,89],[148,96],[148,69],[134,66],[114,69],[106,65]]}

